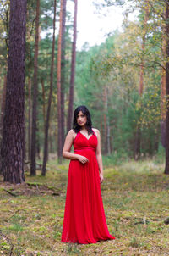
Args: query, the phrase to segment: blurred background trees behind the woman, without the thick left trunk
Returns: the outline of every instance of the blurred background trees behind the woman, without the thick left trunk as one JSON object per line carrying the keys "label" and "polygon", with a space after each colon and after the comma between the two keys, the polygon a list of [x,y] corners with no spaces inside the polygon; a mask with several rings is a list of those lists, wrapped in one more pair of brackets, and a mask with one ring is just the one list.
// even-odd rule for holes
{"label": "blurred background trees behind the woman, without the thick left trunk", "polygon": [[[137,160],[164,155],[166,150],[165,173],[169,173],[168,1],[97,2],[99,8],[128,4],[123,31],[112,31],[101,45],[85,44],[79,51],[75,51],[78,1],[73,1],[74,14],[67,2],[27,3],[25,162],[31,163],[31,175],[41,159],[42,175],[52,155],[62,160],[72,108],[82,104],[101,131],[103,154]],[[1,141],[10,50],[9,3],[0,1]],[[138,17],[130,21],[128,13],[134,9]]]}

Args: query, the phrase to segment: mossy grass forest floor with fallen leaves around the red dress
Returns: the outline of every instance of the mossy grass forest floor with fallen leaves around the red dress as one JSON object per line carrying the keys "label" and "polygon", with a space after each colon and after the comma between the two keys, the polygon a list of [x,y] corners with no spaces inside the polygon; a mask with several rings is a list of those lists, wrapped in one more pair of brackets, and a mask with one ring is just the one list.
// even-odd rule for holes
{"label": "mossy grass forest floor with fallen leaves around the red dress", "polygon": [[[0,255],[169,255],[169,177],[155,159],[126,160],[105,168],[101,193],[108,229],[116,240],[60,242],[68,161],[47,164],[46,177],[25,171],[23,185],[0,178]],[[169,221],[168,221],[169,222]]]}

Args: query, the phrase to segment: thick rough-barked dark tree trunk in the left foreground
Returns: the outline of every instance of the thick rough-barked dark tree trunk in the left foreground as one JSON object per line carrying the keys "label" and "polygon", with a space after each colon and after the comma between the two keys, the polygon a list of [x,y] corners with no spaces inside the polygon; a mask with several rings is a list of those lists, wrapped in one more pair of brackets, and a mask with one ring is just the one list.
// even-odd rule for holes
{"label": "thick rough-barked dark tree trunk in the left foreground", "polygon": [[4,181],[25,181],[25,29],[26,0],[10,1],[6,103],[1,145]]}

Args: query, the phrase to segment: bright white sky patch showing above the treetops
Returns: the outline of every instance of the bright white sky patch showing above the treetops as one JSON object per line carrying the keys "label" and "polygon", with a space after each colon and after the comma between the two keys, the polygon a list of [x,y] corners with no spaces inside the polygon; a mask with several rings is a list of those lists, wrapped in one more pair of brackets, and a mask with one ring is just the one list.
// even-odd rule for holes
{"label": "bright white sky patch showing above the treetops", "polygon": [[[68,1],[67,4],[67,9],[74,15],[74,3]],[[123,8],[109,7],[101,8],[101,10],[99,14],[92,0],[78,0],[78,50],[81,49],[85,42],[88,42],[89,46],[100,45],[101,42],[106,40],[108,33],[117,29],[121,31],[123,24]]]}

